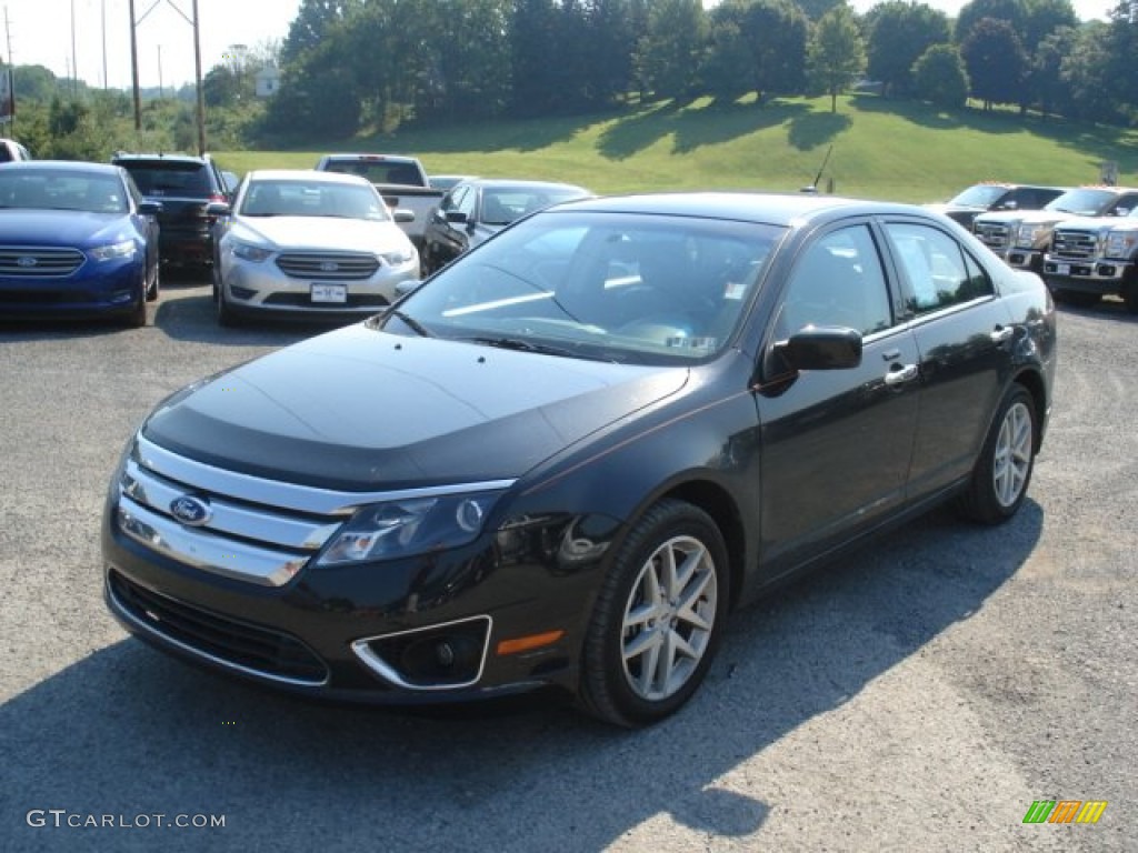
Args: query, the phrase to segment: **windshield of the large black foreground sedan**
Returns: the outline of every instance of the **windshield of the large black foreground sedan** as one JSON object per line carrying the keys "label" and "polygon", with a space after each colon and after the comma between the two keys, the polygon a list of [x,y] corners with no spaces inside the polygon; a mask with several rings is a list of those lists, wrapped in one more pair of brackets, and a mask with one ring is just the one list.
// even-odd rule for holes
{"label": "windshield of the large black foreground sedan", "polygon": [[388,331],[636,364],[719,353],[783,230],[550,210],[500,233],[378,322]]}

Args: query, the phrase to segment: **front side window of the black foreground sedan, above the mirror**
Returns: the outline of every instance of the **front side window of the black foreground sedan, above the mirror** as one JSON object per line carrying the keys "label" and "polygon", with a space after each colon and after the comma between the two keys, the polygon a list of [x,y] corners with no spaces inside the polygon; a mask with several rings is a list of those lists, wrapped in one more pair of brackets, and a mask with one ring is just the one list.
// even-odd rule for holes
{"label": "front side window of the black foreground sedan, above the mirror", "polygon": [[873,334],[892,325],[889,290],[869,229],[832,231],[810,243],[791,272],[776,334],[836,325]]}

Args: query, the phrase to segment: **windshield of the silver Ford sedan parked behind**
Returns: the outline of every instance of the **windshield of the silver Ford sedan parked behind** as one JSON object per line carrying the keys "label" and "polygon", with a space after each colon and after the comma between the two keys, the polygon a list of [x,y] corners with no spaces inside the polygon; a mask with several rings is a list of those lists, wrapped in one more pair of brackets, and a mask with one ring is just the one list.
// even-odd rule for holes
{"label": "windshield of the silver Ford sedan parked behind", "polygon": [[387,205],[370,184],[329,181],[250,181],[238,201],[240,216],[330,216],[388,222]]}

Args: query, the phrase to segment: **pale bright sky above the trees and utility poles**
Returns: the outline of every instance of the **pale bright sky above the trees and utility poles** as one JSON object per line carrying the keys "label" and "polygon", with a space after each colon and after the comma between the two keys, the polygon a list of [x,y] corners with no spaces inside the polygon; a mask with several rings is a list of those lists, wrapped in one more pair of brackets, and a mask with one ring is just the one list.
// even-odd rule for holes
{"label": "pale bright sky above the trees and utility poles", "polygon": [[[861,13],[880,0],[852,0]],[[925,0],[955,17],[965,0]],[[1073,0],[1081,20],[1105,18],[1118,0]],[[283,41],[300,0],[197,0],[201,73],[228,48]],[[88,85],[131,86],[130,0],[0,0],[0,57],[43,65]],[[134,0],[139,84],[179,86],[193,81],[193,0]],[[72,26],[74,20],[74,27]],[[74,31],[75,38],[72,39]],[[106,45],[106,47],[105,47]]]}

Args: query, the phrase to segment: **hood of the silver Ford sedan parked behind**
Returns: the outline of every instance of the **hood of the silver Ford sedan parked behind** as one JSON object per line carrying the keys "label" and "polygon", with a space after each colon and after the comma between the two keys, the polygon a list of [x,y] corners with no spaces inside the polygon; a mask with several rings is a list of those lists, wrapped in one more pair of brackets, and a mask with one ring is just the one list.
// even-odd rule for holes
{"label": "hood of the silver Ford sedan parked behind", "polygon": [[229,234],[277,249],[391,251],[410,245],[394,222],[336,216],[239,217]]}

